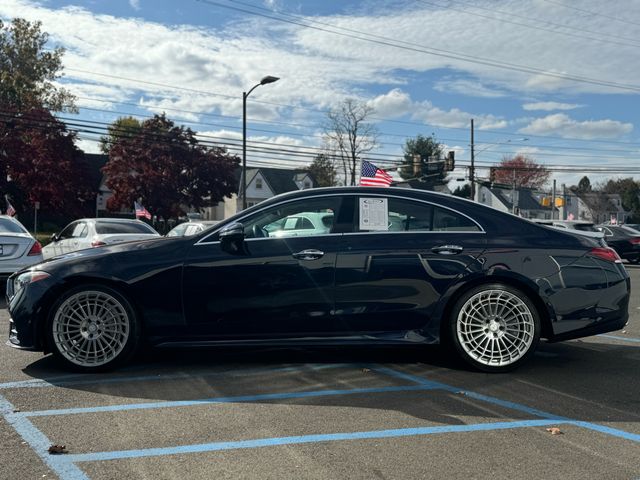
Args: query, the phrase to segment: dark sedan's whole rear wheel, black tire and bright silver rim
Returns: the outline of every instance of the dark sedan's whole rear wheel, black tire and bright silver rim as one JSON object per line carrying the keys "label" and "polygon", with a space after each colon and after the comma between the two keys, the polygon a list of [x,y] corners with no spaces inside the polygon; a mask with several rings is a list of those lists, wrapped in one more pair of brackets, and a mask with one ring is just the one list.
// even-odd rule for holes
{"label": "dark sedan's whole rear wheel, black tire and bright silver rim", "polygon": [[540,339],[540,317],[531,300],[500,283],[465,292],[455,303],[450,327],[458,353],[485,372],[516,368],[531,357]]}

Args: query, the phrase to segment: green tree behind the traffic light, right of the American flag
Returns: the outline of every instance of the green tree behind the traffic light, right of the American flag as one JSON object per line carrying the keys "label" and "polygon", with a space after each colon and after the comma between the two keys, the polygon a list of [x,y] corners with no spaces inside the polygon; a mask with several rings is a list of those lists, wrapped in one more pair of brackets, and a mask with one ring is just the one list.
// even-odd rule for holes
{"label": "green tree behind the traffic light, right of the American flag", "polygon": [[[404,159],[398,173],[402,178],[420,178],[425,189],[433,188],[435,185],[447,183],[447,173],[444,171],[443,163],[429,165],[429,159],[442,160],[443,146],[435,135],[428,137],[418,135],[416,138],[408,138],[403,147]],[[419,171],[415,172],[414,157],[420,156]]]}

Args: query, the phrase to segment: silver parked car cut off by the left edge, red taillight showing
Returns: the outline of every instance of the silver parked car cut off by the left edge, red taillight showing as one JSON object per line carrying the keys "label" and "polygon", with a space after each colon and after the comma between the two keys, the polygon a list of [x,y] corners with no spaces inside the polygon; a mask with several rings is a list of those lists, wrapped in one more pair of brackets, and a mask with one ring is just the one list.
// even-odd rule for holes
{"label": "silver parked car cut off by the left edge, red taillight showing", "polygon": [[13,217],[0,215],[0,280],[42,261],[42,246]]}

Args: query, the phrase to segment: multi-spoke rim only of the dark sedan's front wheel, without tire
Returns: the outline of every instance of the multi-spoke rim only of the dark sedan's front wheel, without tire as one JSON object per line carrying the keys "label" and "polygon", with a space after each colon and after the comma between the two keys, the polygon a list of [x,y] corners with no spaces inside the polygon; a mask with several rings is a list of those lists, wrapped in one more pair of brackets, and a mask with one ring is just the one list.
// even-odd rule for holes
{"label": "multi-spoke rim only of the dark sedan's front wheel, without tire", "polygon": [[127,310],[106,292],[87,290],[71,295],[53,318],[53,341],[62,356],[80,366],[111,362],[130,335]]}

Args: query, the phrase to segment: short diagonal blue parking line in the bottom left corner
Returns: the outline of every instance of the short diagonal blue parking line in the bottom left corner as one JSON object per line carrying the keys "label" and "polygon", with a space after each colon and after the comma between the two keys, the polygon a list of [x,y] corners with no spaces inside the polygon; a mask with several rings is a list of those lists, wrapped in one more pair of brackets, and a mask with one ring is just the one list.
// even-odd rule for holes
{"label": "short diagonal blue parking line in the bottom left corner", "polygon": [[0,395],[0,413],[7,423],[36,452],[45,465],[63,480],[89,480],[89,477],[65,456],[50,455],[47,449],[51,445],[51,441],[29,419],[13,413],[14,410],[15,407]]}

